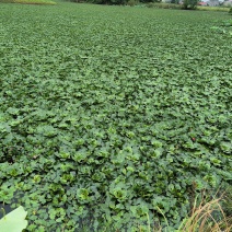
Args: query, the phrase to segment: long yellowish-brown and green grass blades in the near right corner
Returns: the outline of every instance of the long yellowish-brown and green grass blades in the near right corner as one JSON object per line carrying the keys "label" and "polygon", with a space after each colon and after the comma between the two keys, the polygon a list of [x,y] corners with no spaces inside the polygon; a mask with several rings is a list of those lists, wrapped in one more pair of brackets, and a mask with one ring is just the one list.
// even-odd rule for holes
{"label": "long yellowish-brown and green grass blades in the near right corner", "polygon": [[[222,194],[218,198],[206,200],[207,196],[201,193],[200,196],[195,198],[193,209],[188,216],[182,221],[176,232],[230,232],[232,231],[232,198],[231,192]],[[199,200],[200,199],[200,200]],[[225,207],[229,206],[229,207]],[[229,209],[230,208],[230,209]],[[228,210],[230,210],[228,212]],[[161,214],[166,221],[166,228],[161,225],[151,227],[151,222],[148,216],[148,225],[139,227],[140,232],[172,232],[169,227],[169,221],[165,214],[159,209]]]}

